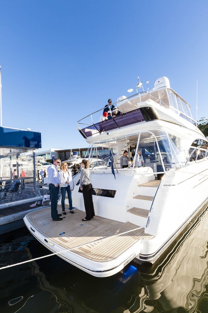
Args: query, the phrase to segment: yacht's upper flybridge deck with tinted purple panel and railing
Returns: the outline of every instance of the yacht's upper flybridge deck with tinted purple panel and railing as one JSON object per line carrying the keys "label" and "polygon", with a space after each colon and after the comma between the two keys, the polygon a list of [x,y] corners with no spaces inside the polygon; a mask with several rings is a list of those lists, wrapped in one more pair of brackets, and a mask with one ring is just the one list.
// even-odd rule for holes
{"label": "yacht's upper flybridge deck with tinted purple panel and railing", "polygon": [[[159,81],[160,82],[160,81]],[[159,84],[159,83],[158,83]],[[178,117],[182,117],[186,121],[196,126],[190,111],[190,105],[183,100],[174,90],[162,84],[163,88],[158,87],[148,92],[140,92],[128,98],[122,99],[114,104],[121,115],[111,116],[110,119],[102,120],[102,111],[98,110],[82,120],[78,121],[78,130],[82,136],[87,137],[98,135],[106,131],[115,130],[124,126],[133,125],[135,123],[164,119],[160,116],[161,107],[168,109],[166,115],[174,112],[177,123]],[[160,86],[160,85],[159,85]],[[144,105],[142,105],[144,103]],[[170,111],[171,113],[170,113]],[[100,116],[101,115],[101,116]],[[99,121],[99,122],[98,122]],[[83,125],[85,127],[83,127]]]}

